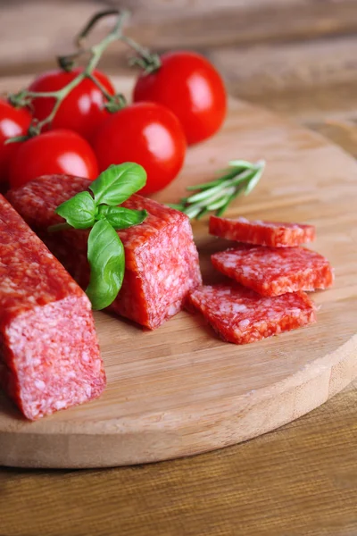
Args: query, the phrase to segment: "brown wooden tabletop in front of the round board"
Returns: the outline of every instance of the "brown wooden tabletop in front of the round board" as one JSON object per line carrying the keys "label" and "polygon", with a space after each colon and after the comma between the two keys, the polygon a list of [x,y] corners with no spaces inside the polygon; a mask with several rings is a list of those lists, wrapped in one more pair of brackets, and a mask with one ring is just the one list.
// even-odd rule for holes
{"label": "brown wooden tabletop in front of the round board", "polygon": [[0,469],[5,536],[354,536],[357,383],[212,453],[91,471]]}

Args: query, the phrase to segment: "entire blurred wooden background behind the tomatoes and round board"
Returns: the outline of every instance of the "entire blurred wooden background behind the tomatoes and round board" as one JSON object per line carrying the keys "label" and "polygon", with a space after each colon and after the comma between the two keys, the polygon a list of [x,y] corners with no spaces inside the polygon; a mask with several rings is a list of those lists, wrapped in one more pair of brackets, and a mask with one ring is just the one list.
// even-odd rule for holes
{"label": "entire blurred wooden background behind the tomatoes and round board", "polygon": [[[128,33],[142,44],[203,52],[233,95],[356,154],[356,0],[2,0],[0,76],[53,66],[54,54],[71,51],[83,22],[108,6],[131,10]],[[104,69],[127,71],[125,54],[113,45]]]}

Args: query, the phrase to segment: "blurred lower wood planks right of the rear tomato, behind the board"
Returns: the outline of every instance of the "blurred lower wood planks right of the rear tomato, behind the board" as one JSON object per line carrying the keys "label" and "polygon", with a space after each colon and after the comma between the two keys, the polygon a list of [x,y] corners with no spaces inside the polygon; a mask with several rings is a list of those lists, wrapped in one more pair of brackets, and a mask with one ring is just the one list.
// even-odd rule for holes
{"label": "blurred lower wood planks right of the rear tomato, behind the board", "polygon": [[357,40],[221,47],[209,57],[232,95],[316,130],[357,154]]}

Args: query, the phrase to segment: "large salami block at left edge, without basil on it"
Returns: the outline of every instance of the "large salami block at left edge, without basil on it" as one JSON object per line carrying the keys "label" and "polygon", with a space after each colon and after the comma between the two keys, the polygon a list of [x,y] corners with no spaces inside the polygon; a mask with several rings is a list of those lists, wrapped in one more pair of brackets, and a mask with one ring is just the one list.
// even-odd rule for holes
{"label": "large salami block at left edge, without basil on it", "polygon": [[90,302],[0,196],[0,383],[28,419],[98,397]]}

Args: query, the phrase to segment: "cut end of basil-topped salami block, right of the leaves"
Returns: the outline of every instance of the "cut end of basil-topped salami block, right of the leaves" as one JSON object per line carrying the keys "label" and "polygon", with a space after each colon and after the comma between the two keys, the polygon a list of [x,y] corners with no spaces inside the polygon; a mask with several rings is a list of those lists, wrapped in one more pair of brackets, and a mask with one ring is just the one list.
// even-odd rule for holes
{"label": "cut end of basil-topped salami block, right of the leaves", "polygon": [[124,205],[149,215],[119,231],[126,273],[111,309],[153,330],[179,313],[187,292],[202,283],[198,253],[186,214],[141,196]]}

